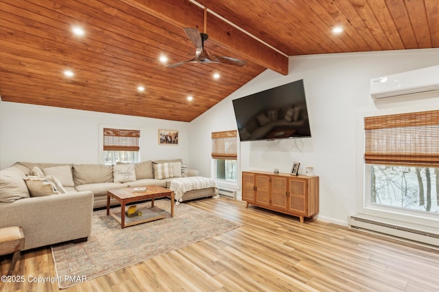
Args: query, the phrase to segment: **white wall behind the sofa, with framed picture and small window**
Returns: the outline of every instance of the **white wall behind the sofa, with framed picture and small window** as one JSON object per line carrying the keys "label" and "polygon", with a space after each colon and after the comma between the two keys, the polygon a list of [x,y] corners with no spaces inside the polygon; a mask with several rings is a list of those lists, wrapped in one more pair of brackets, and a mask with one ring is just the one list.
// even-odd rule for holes
{"label": "white wall behind the sofa, with framed picture and small window", "polygon": [[[99,124],[141,129],[141,160],[189,163],[189,123],[0,101],[0,169],[16,161],[99,163]],[[158,145],[158,129],[179,131]]]}

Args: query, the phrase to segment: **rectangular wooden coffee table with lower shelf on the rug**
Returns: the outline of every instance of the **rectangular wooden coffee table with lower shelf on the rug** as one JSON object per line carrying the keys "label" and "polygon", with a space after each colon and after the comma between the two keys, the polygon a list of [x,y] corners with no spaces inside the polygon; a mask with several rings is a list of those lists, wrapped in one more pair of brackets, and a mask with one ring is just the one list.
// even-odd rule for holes
{"label": "rectangular wooden coffee table with lower shelf on the rug", "polygon": [[[165,217],[147,207],[138,208],[139,211],[142,211],[141,216],[126,217],[125,206],[130,202],[151,199],[151,207],[154,207],[154,198],[169,197],[171,198],[171,217],[174,217],[174,191],[165,189],[164,187],[158,187],[157,185],[148,185],[146,191],[132,191],[132,189],[132,187],[127,187],[125,189],[112,189],[107,191],[107,216],[111,215],[115,218],[115,220],[121,224],[122,228]],[[115,198],[121,204],[120,212],[110,214],[110,198]]]}

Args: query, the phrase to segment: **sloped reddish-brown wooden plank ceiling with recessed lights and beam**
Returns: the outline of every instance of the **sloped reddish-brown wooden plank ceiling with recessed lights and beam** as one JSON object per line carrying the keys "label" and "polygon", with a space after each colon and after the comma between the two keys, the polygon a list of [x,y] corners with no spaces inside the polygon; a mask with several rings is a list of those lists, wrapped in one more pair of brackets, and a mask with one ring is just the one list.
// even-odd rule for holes
{"label": "sloped reddish-brown wooden plank ceiling with recessed lights and beam", "polygon": [[[266,68],[286,75],[287,55],[439,47],[438,0],[249,3],[1,0],[1,100],[190,122]],[[206,50],[244,59],[246,66],[167,68],[158,60],[165,55],[171,64],[195,55],[182,27],[202,32],[203,7]],[[73,34],[74,26],[84,36]],[[344,31],[333,34],[336,26]]]}

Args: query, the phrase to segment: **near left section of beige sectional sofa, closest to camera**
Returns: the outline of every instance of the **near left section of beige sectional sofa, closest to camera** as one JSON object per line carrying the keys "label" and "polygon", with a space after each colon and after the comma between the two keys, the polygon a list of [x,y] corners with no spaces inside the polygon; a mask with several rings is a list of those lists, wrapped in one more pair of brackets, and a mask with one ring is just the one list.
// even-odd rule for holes
{"label": "near left section of beige sectional sofa, closest to camera", "polygon": [[0,228],[23,228],[23,250],[86,240],[91,234],[93,193],[74,191],[62,196],[31,197],[23,180],[29,174],[20,165],[0,170]]}

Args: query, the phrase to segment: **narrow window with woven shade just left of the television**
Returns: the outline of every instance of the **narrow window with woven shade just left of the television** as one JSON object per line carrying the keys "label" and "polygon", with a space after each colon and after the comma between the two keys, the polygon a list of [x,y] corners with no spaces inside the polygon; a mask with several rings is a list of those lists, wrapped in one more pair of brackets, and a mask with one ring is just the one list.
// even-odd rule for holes
{"label": "narrow window with woven shade just left of the television", "polygon": [[218,181],[237,182],[237,131],[212,133],[212,158]]}

